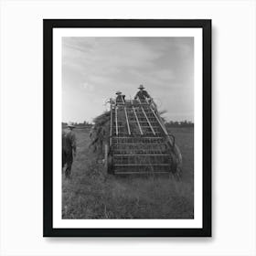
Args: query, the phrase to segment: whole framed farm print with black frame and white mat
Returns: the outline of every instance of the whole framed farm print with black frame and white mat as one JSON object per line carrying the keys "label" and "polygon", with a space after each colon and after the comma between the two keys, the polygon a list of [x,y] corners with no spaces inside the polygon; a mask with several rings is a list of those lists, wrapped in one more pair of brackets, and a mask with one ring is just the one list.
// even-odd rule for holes
{"label": "whole framed farm print with black frame and white mat", "polygon": [[44,20],[44,236],[211,236],[211,20]]}

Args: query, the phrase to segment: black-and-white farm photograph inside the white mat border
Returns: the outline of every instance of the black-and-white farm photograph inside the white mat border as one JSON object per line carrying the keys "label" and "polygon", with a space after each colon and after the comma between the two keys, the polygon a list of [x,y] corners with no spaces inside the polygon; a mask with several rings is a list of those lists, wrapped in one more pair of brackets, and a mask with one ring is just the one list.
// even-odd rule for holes
{"label": "black-and-white farm photograph inside the white mat border", "polygon": [[193,37],[62,37],[62,218],[194,218]]}

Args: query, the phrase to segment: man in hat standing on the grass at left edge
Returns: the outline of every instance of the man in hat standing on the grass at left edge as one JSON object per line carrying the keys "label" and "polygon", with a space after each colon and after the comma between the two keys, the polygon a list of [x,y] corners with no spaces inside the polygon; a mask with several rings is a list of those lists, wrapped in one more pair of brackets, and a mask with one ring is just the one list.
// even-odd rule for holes
{"label": "man in hat standing on the grass at left edge", "polygon": [[77,154],[77,140],[73,132],[75,126],[72,123],[68,124],[68,129],[62,132],[62,171],[67,164],[65,170],[66,178],[70,177],[73,157]]}

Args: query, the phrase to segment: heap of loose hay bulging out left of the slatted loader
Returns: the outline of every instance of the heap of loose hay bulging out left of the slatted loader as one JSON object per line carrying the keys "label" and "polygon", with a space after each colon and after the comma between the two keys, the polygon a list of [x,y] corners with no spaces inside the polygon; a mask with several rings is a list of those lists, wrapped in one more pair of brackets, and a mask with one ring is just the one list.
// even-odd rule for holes
{"label": "heap of loose hay bulging out left of the slatted loader", "polygon": [[103,112],[93,120],[94,125],[91,128],[91,144],[92,150],[97,155],[103,154],[103,145],[109,142],[111,112]]}

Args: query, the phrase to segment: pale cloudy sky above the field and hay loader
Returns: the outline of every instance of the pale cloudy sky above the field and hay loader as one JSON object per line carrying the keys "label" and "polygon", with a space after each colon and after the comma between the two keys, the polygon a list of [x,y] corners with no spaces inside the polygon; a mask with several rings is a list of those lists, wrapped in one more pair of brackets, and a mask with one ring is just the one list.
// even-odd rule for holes
{"label": "pale cloudy sky above the field and hay loader", "polygon": [[140,84],[168,121],[194,121],[193,37],[62,38],[63,122],[91,122]]}

